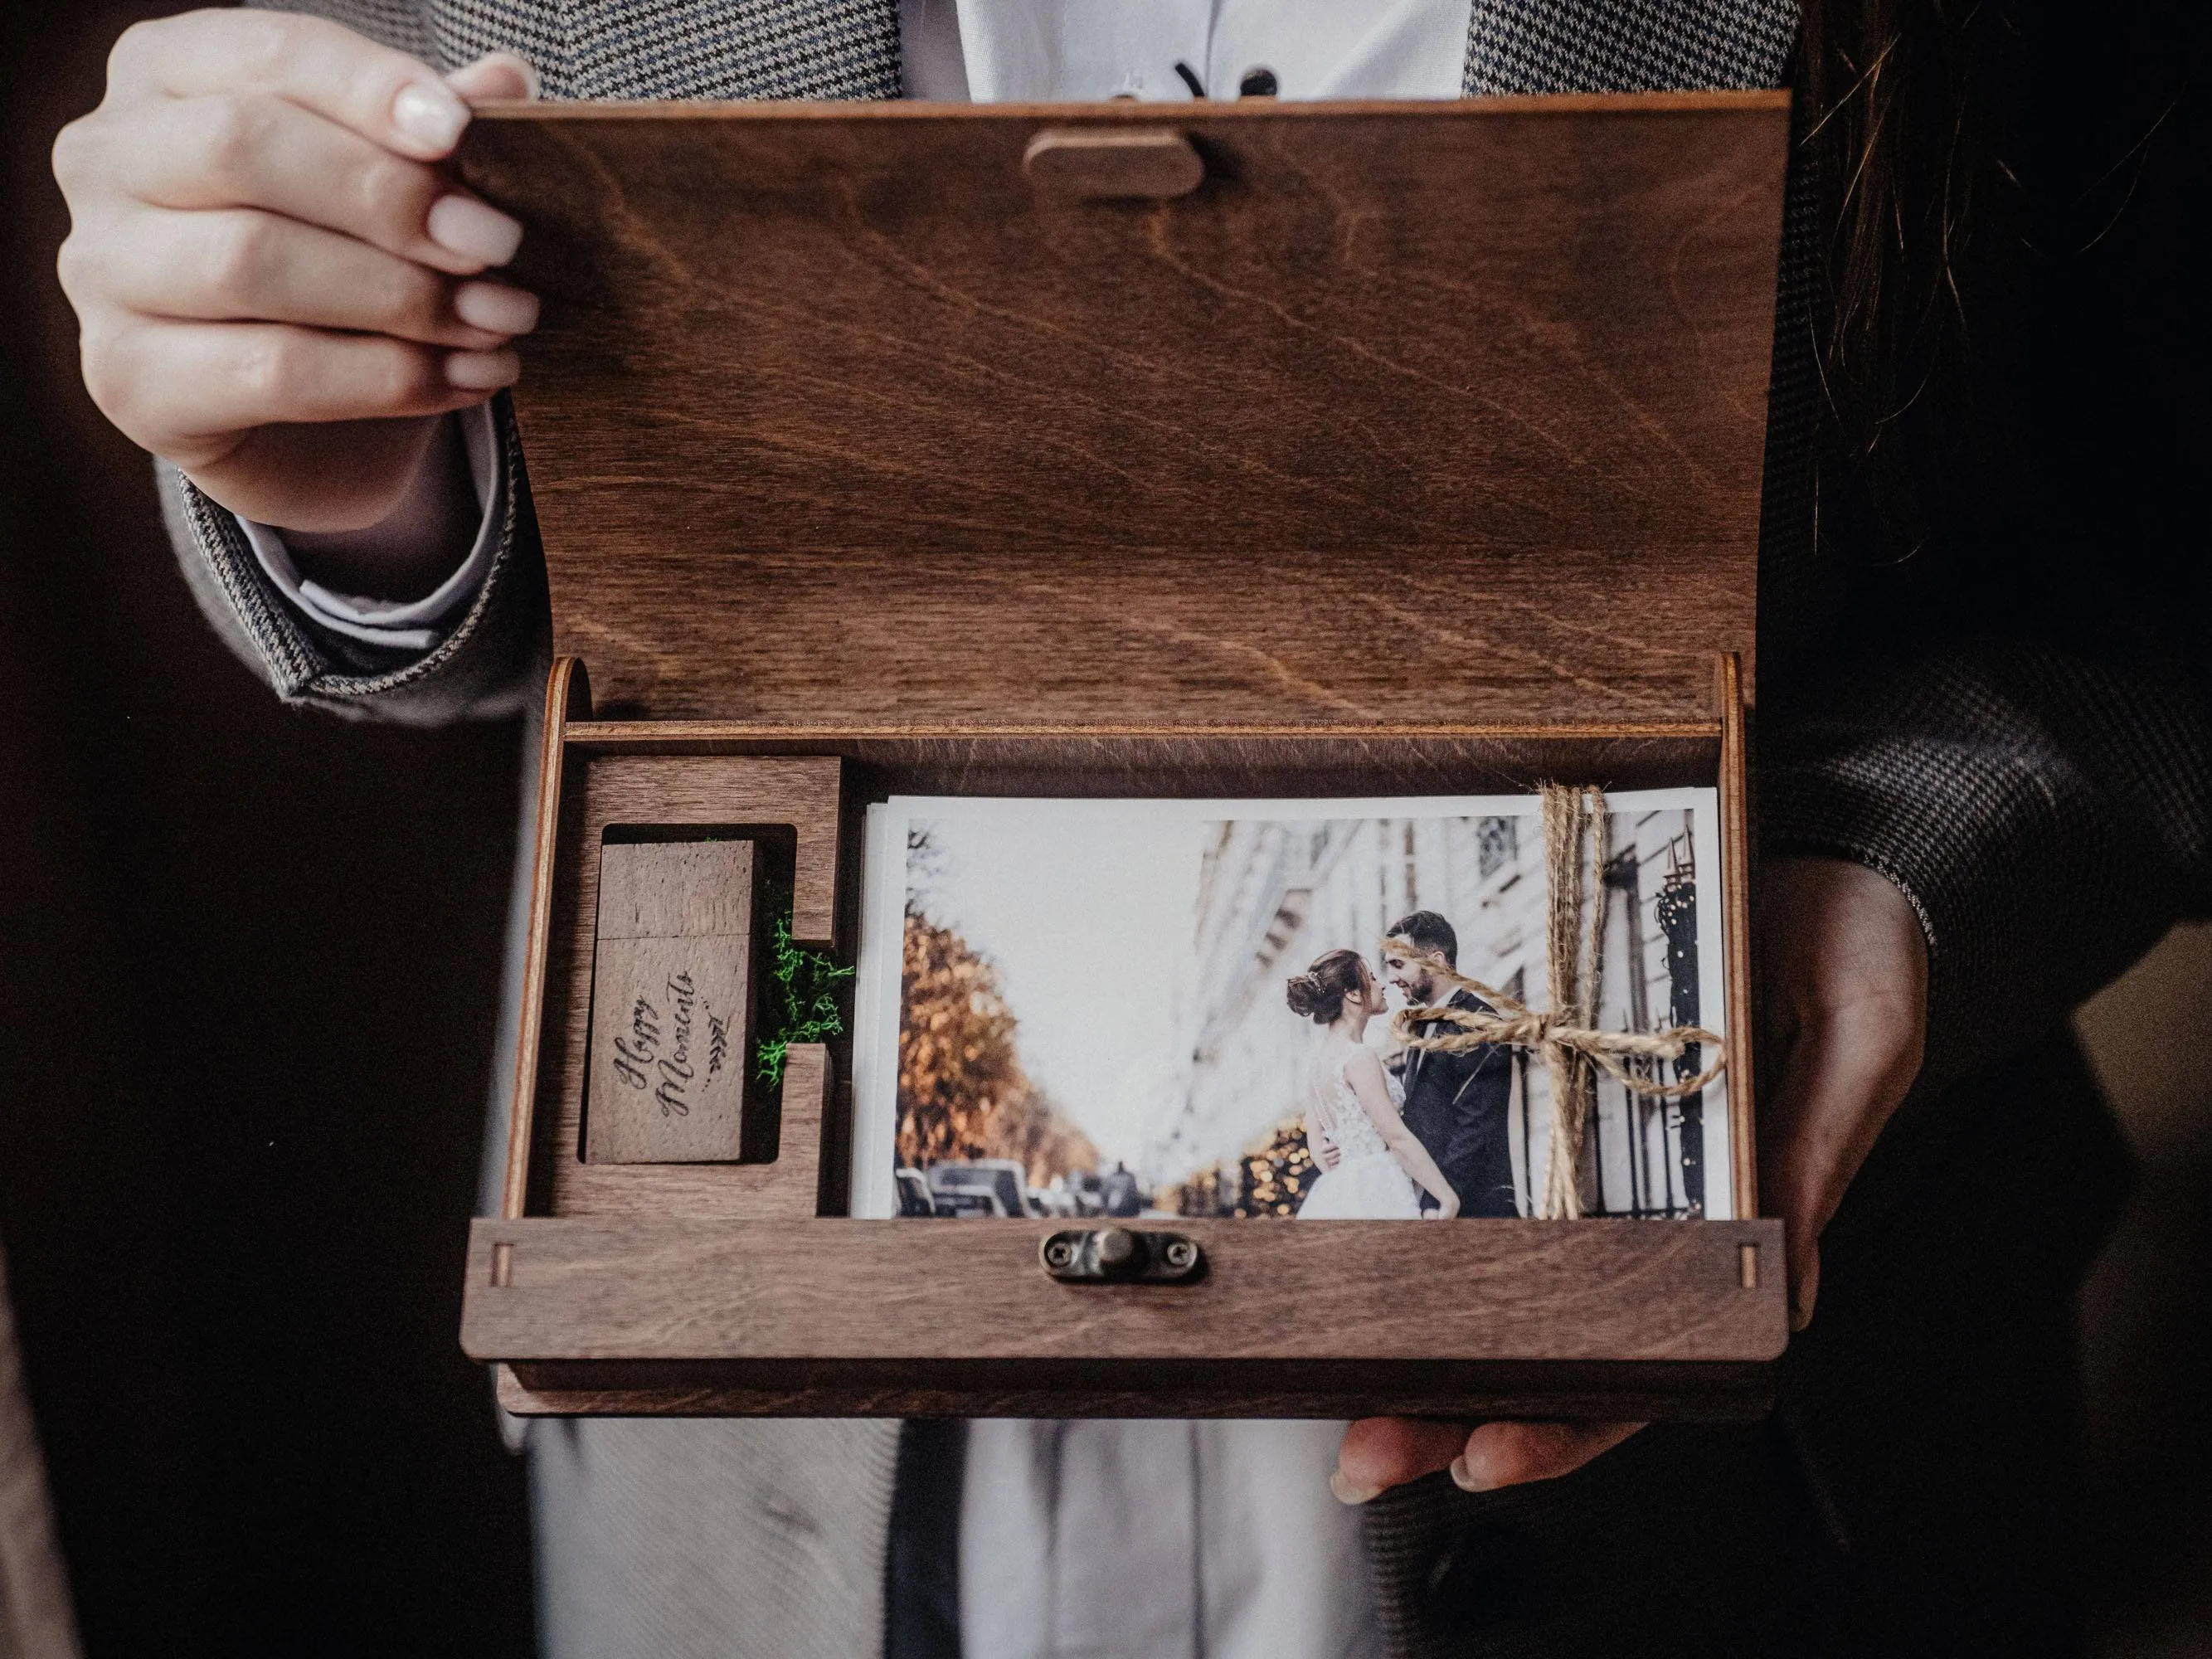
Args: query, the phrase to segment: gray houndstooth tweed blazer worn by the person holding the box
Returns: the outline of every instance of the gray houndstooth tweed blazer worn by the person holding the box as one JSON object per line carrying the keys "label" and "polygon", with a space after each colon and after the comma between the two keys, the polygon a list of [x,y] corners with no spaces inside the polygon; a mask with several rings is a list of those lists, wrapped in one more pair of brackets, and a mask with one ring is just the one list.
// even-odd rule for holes
{"label": "gray houndstooth tweed blazer worn by the person holding the box", "polygon": [[[453,66],[524,53],[551,97],[896,97],[896,0],[303,0]],[[1475,93],[1781,84],[1794,0],[1475,0]],[[1816,204],[1792,177],[1761,546],[1761,838],[1885,872],[1927,927],[1931,1073],[2048,1031],[2174,916],[2208,909],[2212,728],[2188,686],[2028,641],[1922,641],[1847,672],[1840,560],[1814,542]],[[502,409],[509,460],[522,445]],[[535,708],[542,562],[511,491],[484,588],[429,653],[316,630],[234,522],[164,469],[186,577],[279,697],[392,721]],[[1790,697],[1798,686],[1803,695]],[[1772,710],[1794,708],[1790,717]],[[526,776],[533,772],[526,768]],[[529,810],[529,807],[526,807]],[[529,818],[526,818],[529,821]],[[544,1641],[557,1655],[883,1652],[896,1425],[575,1422],[533,1431]],[[1548,1500],[1544,1500],[1548,1502]],[[1398,1655],[1458,1650],[1422,1613],[1473,1500],[1429,1482],[1369,1513]]]}

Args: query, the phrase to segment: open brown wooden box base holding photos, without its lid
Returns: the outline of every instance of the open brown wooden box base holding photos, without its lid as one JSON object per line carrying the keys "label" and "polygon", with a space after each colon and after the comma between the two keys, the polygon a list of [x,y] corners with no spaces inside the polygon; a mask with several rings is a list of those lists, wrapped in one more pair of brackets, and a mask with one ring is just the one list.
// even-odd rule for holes
{"label": "open brown wooden box base holding photos, without its lid", "polygon": [[1206,1252],[1194,1281],[1071,1285],[1037,1259],[1064,1221],[843,1217],[849,1095],[823,1046],[790,1051],[761,1157],[582,1155],[608,832],[787,836],[794,931],[827,942],[852,933],[849,849],[885,792],[1719,781],[1732,1197],[1752,1214],[1732,664],[1719,692],[1714,721],[1644,728],[790,734],[586,721],[582,668],[562,661],[507,1203],[471,1232],[462,1347],[533,1416],[1756,1416],[1787,1343],[1774,1221],[1161,1221]]}

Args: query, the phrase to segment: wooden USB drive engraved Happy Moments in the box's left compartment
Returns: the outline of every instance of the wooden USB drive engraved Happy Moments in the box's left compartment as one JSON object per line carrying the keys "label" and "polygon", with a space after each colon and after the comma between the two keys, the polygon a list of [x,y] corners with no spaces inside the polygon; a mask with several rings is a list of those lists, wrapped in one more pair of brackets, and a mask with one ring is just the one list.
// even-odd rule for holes
{"label": "wooden USB drive engraved Happy Moments in the box's left compartment", "polygon": [[608,843],[591,975],[591,1164],[734,1161],[752,1046],[750,841]]}

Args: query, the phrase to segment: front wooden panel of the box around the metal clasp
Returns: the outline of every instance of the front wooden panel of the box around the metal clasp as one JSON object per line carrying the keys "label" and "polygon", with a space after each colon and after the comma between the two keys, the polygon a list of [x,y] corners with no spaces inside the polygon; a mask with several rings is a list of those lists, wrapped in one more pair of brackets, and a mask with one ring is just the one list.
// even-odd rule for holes
{"label": "front wooden panel of the box around the metal clasp", "polygon": [[[1714,1389],[1741,1394],[1787,1338],[1774,1221],[1186,1221],[1208,1254],[1188,1285],[1046,1279],[1035,1252],[1055,1225],[478,1221],[462,1347],[553,1387],[721,1387],[785,1409],[832,1367],[858,1367],[843,1387],[865,1394],[964,1389],[960,1367],[980,1363],[987,1391],[1068,1385],[1064,1409],[1088,1413],[1166,1391],[1164,1365],[1223,1400],[1314,1391],[1332,1409],[1495,1385],[1455,1376],[1464,1365],[1511,1367],[1522,1387],[1546,1367],[1584,1387],[1601,1385],[1595,1367],[1714,1365]],[[507,1285],[491,1281],[498,1243]],[[1743,1243],[1765,1263],[1754,1290]],[[1692,1374],[1677,1380],[1697,1396]]]}

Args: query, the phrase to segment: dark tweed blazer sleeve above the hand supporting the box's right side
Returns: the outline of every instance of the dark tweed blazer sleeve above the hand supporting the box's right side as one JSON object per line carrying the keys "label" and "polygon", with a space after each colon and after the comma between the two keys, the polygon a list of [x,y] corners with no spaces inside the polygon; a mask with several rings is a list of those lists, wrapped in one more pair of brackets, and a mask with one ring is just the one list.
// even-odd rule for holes
{"label": "dark tweed blazer sleeve above the hand supporting the box's right side", "polygon": [[2183,845],[2201,741],[2183,710],[2059,653],[1891,664],[1770,734],[1761,847],[1896,883],[1929,947],[1927,1071],[1958,1075],[2048,1031],[2172,925],[2201,874]]}

